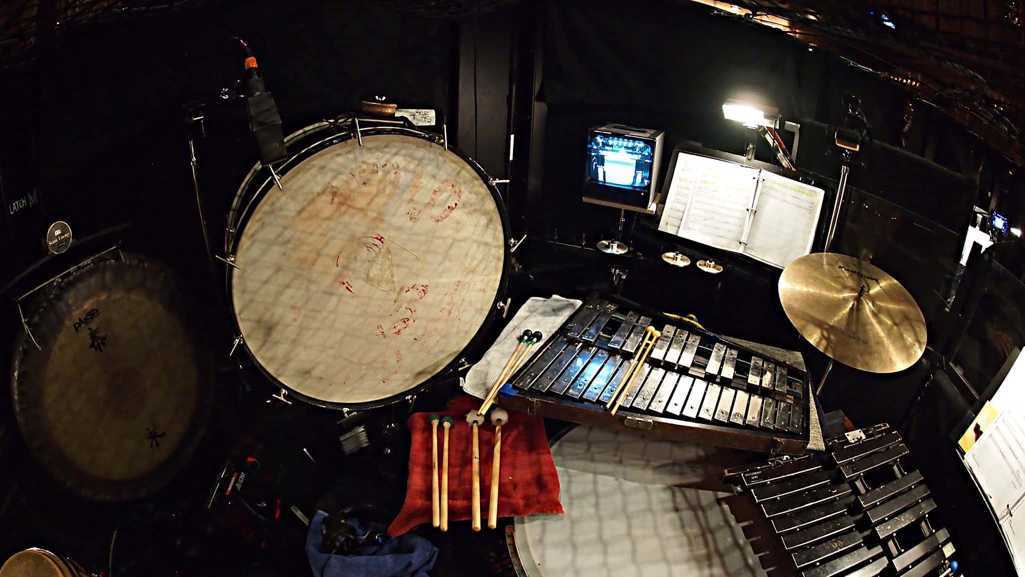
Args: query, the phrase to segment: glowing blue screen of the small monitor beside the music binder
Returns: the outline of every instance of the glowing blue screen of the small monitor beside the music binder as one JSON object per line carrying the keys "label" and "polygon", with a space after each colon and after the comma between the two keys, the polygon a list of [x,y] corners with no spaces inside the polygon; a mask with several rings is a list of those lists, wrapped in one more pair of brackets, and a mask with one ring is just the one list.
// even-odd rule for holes
{"label": "glowing blue screen of the small monitor beside the music binder", "polygon": [[591,182],[647,191],[651,187],[652,145],[640,138],[591,134],[587,145]]}

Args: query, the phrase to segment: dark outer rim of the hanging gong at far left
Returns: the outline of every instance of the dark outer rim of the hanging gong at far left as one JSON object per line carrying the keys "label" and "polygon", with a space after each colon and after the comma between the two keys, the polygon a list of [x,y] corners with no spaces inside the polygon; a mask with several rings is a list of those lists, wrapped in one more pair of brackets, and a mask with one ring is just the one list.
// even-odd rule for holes
{"label": "dark outer rim of the hanging gong at far left", "polygon": [[[158,273],[154,276],[154,279],[159,280],[159,285],[157,286],[168,289],[166,294],[170,295],[170,302],[174,311],[181,315],[180,320],[184,324],[189,334],[193,338],[198,339],[198,335],[202,334],[198,331],[198,317],[189,314],[189,311],[194,308],[194,306],[191,300],[182,298],[184,295],[184,283],[173,274],[173,271],[162,262],[139,254],[122,252],[120,250],[118,253],[120,254],[120,258],[105,257],[83,263],[53,281],[45,289],[45,292],[33,303],[34,311],[27,321],[30,329],[36,327],[46,315],[50,314],[51,307],[57,301],[61,291],[79,281],[79,279],[82,279],[84,275],[90,272],[101,271],[104,267],[109,266],[130,266],[136,271],[149,270]],[[177,447],[175,455],[172,455],[164,463],[140,478],[130,481],[111,481],[93,478],[88,473],[80,471],[69,473],[69,470],[76,470],[74,465],[65,467],[64,459],[59,458],[59,456],[54,456],[53,451],[48,450],[51,448],[45,439],[33,439],[29,437],[27,431],[34,429],[31,424],[26,424],[26,417],[31,412],[31,408],[25,405],[26,400],[18,395],[18,381],[19,375],[24,374],[23,368],[26,364],[26,356],[39,354],[40,351],[36,349],[33,339],[29,337],[25,330],[19,330],[14,341],[11,372],[9,375],[10,399],[18,432],[29,453],[33,456],[36,463],[59,486],[76,495],[97,501],[125,502],[152,495],[166,488],[192,461],[201,441],[206,435],[210,415],[213,412],[214,378],[212,360],[208,355],[203,353],[207,347],[202,346],[199,341],[197,341],[194,349],[197,353],[197,373],[199,375],[199,388],[197,391],[198,410],[192,422],[189,423],[189,429],[181,444]],[[90,484],[92,485],[90,486]],[[97,489],[96,487],[100,488]]]}

